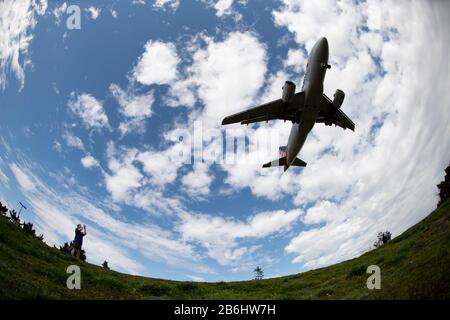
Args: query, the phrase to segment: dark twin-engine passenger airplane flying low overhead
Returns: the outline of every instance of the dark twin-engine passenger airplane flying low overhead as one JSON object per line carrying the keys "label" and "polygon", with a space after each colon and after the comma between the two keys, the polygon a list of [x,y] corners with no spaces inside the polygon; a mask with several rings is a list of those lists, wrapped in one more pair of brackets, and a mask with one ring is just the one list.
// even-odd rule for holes
{"label": "dark twin-engine passenger airplane flying low overhead", "polygon": [[314,124],[334,124],[344,130],[355,131],[353,121],[340,109],[345,98],[344,91],[337,89],[333,100],[323,93],[325,73],[330,68],[328,40],[323,37],[311,49],[300,92],[295,93],[295,84],[286,81],[281,99],[228,116],[223,119],[222,125],[238,122],[249,125],[275,119],[291,121],[287,146],[279,148],[280,159],[264,164],[263,168],[283,166],[286,171],[290,166],[306,167],[306,162],[297,158],[297,155]]}

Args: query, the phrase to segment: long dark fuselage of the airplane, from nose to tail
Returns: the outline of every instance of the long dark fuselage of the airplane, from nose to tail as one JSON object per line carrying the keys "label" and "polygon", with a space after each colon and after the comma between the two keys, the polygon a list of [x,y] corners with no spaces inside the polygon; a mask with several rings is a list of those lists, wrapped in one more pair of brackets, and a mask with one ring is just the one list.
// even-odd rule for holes
{"label": "long dark fuselage of the airplane, from nose to tail", "polygon": [[302,91],[305,92],[305,100],[302,106],[298,106],[300,113],[298,122],[294,122],[289,134],[286,148],[287,161],[284,166],[286,171],[302,149],[308,133],[316,123],[319,114],[319,101],[323,95],[323,81],[328,68],[328,41],[321,38],[316,42],[309,55],[303,80]]}

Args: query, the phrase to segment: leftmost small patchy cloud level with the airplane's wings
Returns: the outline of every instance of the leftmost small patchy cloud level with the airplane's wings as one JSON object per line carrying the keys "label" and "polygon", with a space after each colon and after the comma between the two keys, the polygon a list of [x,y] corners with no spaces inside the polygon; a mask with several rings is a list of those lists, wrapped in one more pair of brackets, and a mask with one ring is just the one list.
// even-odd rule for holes
{"label": "leftmost small patchy cloud level with the airplane's wings", "polygon": [[87,93],[76,95],[72,92],[68,105],[69,109],[81,118],[86,128],[109,128],[108,117],[103,110],[102,103],[92,95]]}

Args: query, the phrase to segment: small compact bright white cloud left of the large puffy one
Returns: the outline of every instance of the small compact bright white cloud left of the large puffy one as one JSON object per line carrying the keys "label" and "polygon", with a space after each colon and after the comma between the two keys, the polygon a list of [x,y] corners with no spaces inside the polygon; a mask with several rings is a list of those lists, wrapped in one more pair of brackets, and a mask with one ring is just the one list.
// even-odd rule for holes
{"label": "small compact bright white cloud left of the large puffy one", "polygon": [[133,78],[141,84],[168,84],[177,76],[179,58],[170,42],[148,41],[145,52],[133,70]]}

